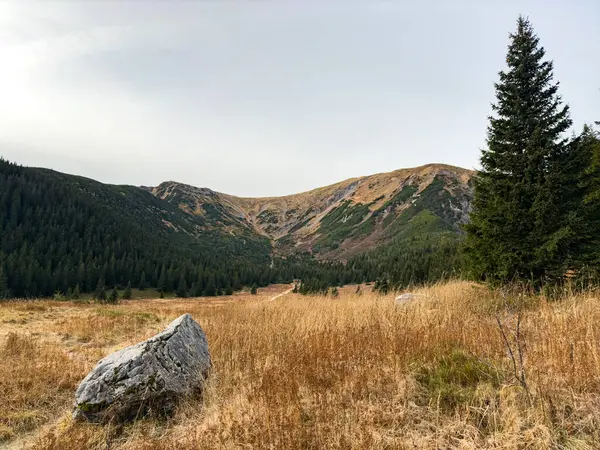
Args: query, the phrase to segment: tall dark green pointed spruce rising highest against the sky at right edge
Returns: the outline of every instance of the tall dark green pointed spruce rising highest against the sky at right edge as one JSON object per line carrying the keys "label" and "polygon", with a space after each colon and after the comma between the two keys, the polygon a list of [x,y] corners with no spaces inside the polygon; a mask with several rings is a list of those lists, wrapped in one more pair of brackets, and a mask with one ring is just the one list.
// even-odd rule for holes
{"label": "tall dark green pointed spruce rising highest against the sky at right edge", "polygon": [[557,279],[573,230],[563,188],[573,180],[565,162],[571,126],[530,22],[519,17],[495,84],[488,149],[475,178],[465,253],[471,272],[492,282]]}

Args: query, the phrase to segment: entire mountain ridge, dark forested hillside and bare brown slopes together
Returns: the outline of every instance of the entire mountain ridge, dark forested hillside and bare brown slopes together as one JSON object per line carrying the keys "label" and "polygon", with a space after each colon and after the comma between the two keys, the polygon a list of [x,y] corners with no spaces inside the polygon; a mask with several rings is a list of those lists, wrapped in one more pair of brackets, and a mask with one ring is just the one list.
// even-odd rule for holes
{"label": "entire mountain ridge, dark forested hillside and bare brown slopes together", "polygon": [[0,158],[0,298],[131,283],[179,295],[303,280],[303,292],[454,273],[472,172],[427,165],[241,198],[115,186]]}

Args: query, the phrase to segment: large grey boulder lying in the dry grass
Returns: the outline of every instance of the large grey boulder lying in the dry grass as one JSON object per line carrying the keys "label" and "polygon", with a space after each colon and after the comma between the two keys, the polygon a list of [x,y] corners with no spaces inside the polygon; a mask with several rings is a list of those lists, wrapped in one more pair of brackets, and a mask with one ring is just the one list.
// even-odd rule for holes
{"label": "large grey boulder lying in the dry grass", "polygon": [[202,391],[210,368],[206,335],[184,314],[162,333],[100,360],[77,388],[73,418],[106,423],[170,414],[180,398]]}

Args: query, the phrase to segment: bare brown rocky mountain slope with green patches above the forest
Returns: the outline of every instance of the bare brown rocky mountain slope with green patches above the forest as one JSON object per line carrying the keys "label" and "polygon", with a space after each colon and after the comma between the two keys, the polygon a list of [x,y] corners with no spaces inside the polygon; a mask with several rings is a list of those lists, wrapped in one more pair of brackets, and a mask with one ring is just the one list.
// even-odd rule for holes
{"label": "bare brown rocky mountain slope with green patches above the forest", "polygon": [[174,181],[146,189],[194,216],[205,230],[262,235],[280,254],[347,259],[397,236],[459,232],[470,210],[472,175],[429,164],[267,198],[235,197]]}

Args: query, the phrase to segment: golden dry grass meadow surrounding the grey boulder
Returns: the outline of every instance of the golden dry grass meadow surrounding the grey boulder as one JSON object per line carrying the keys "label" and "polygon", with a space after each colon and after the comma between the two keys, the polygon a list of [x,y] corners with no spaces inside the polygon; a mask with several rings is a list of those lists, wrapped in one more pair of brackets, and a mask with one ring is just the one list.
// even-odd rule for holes
{"label": "golden dry grass meadow surrounding the grey boulder", "polygon": [[[547,302],[467,282],[396,305],[367,287],[283,295],[0,304],[0,447],[34,449],[600,448],[600,299]],[[497,317],[527,390],[515,377]],[[106,354],[189,312],[214,370],[168,420],[73,423]],[[517,370],[519,375],[519,370]]]}

